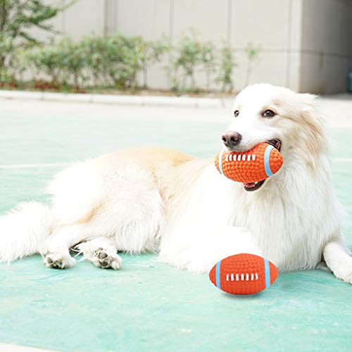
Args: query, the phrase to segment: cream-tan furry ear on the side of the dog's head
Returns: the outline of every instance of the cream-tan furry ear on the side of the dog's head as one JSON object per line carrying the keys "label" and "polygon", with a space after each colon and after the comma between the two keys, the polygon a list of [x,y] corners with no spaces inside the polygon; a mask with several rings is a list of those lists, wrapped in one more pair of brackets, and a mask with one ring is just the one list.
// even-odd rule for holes
{"label": "cream-tan furry ear on the side of the dog's head", "polygon": [[313,94],[299,95],[302,101],[300,116],[303,130],[301,132],[304,134],[306,147],[310,151],[308,155],[315,158],[320,153],[326,153],[328,149],[325,119],[319,112],[318,96]]}

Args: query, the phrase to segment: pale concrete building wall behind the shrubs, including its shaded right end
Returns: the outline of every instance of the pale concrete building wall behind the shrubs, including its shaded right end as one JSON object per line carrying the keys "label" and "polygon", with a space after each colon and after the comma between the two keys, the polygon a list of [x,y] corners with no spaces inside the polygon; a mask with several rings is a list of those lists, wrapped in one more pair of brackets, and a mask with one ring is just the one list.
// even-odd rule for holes
{"label": "pale concrete building wall behind the shrubs, including its shaded right end", "polygon": [[[149,40],[166,34],[177,42],[192,28],[203,41],[232,46],[234,89],[248,80],[342,92],[351,69],[351,0],[78,0],[54,21],[74,38],[121,32]],[[249,42],[260,46],[260,55],[247,77]],[[170,87],[168,64],[165,58],[149,70],[149,87]],[[201,70],[196,81],[205,86]]]}

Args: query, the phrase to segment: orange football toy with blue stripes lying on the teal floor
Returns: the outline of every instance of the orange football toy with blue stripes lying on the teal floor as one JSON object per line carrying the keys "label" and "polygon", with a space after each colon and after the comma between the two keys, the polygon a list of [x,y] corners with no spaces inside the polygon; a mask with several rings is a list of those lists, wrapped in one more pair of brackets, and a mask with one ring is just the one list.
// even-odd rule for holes
{"label": "orange football toy with blue stripes lying on the teal floor", "polygon": [[277,275],[268,259],[249,253],[222,259],[209,272],[210,281],[228,294],[256,294],[270,287]]}

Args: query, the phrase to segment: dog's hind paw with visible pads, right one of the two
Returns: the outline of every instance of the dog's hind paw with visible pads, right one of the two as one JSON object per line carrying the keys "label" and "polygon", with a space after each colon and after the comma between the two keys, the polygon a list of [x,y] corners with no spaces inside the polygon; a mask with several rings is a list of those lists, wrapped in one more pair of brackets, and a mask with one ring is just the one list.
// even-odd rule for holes
{"label": "dog's hind paw with visible pads, right one of the two", "polygon": [[77,244],[75,249],[83,254],[84,259],[89,260],[98,268],[113,270],[121,268],[122,259],[117,253],[113,239],[98,237]]}

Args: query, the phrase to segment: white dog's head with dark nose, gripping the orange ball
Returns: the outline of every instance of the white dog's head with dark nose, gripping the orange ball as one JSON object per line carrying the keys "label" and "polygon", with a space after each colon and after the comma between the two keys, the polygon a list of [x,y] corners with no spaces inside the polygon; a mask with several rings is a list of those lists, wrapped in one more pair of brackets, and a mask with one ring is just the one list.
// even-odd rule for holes
{"label": "white dog's head with dark nose, gripping the orange ball", "polygon": [[[318,155],[327,150],[324,121],[316,111],[315,98],[270,84],[247,87],[235,99],[232,122],[222,134],[225,148],[247,151],[267,141],[282,152],[284,163],[296,156],[314,168]],[[255,191],[263,184],[244,184],[244,189]]]}

